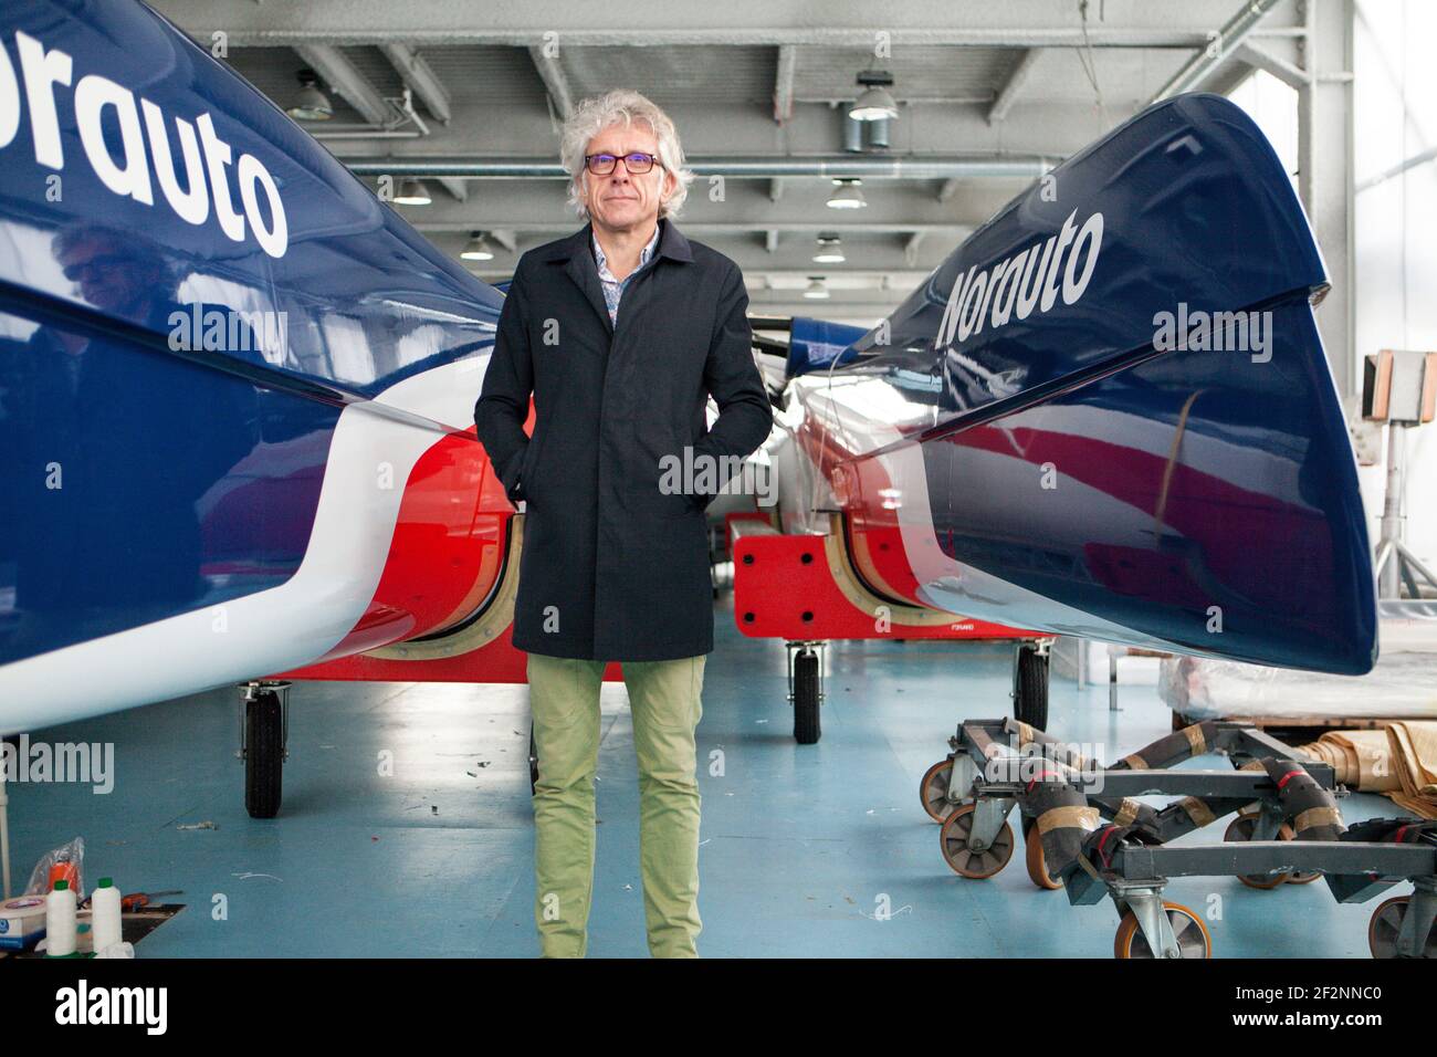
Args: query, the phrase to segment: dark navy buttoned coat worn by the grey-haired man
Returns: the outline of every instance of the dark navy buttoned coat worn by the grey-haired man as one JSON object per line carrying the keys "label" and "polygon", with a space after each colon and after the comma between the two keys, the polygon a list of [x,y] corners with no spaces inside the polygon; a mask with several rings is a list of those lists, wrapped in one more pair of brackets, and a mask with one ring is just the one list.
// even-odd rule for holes
{"label": "dark navy buttoned coat worn by the grey-haired man", "polygon": [[[509,498],[526,502],[513,641],[527,653],[624,662],[713,650],[704,508],[717,489],[661,489],[662,460],[683,463],[685,447],[688,465],[747,456],[773,411],[739,266],[658,223],[616,326],[589,226],[520,257],[499,318],[474,424]],[[708,394],[720,411],[711,429]]]}

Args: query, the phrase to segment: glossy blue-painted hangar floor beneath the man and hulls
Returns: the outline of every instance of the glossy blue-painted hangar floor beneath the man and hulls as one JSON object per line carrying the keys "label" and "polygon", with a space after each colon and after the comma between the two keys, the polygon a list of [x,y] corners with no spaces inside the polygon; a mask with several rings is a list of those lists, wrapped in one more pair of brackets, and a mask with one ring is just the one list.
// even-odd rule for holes
{"label": "glossy blue-painted hangar floor beneath the man and hulls", "polygon": [[[1006,649],[841,644],[823,741],[799,746],[782,646],[741,639],[726,604],[716,624],[698,736],[700,759],[721,751],[723,767],[701,771],[701,953],[1111,956],[1111,903],[1071,907],[1039,892],[1022,847],[990,880],[953,874],[918,805],[918,779],[958,718],[1007,710]],[[10,787],[17,884],[42,851],[80,834],[89,886],[112,874],[125,892],[187,893],[175,902],[188,909],[141,956],[532,956],[525,697],[522,686],[300,685],[273,821],[244,813],[233,690],[33,733],[114,742],[116,782],[109,795]],[[642,956],[622,686],[605,687],[604,702],[589,951]],[[1096,743],[1104,759],[1170,729],[1151,687],[1125,687],[1122,709],[1108,712],[1105,687],[1055,677],[1049,729]],[[379,774],[385,751],[392,777]],[[1342,810],[1348,821],[1397,814],[1369,795]],[[217,828],[178,828],[201,821]],[[1167,897],[1209,913],[1220,958],[1368,956],[1375,902],[1338,906],[1322,882],[1257,892],[1230,877],[1183,879]]]}

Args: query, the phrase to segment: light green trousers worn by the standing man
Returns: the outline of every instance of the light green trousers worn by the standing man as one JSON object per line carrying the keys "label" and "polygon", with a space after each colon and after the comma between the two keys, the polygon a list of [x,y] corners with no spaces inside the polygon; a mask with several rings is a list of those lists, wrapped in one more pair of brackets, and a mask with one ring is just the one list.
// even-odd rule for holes
{"label": "light green trousers worn by the standing man", "polygon": [[[698,781],[694,729],[704,656],[624,662],[638,755],[639,870],[648,949],[697,958]],[[593,892],[593,772],[605,663],[529,654],[535,785],[535,922],[545,958],[582,958]]]}

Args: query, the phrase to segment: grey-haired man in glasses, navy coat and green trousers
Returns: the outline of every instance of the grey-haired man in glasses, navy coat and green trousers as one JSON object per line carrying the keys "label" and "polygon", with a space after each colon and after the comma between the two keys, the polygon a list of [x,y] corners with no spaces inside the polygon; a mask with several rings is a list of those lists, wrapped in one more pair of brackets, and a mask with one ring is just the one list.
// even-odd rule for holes
{"label": "grey-haired man in glasses, navy coat and green trousers", "polygon": [[[526,502],[513,641],[529,653],[539,755],[535,920],[545,956],[583,955],[599,687],[616,660],[638,752],[648,946],[696,956],[694,729],[713,650],[704,508],[723,483],[703,475],[757,449],[772,408],[739,267],[673,223],[693,180],[673,121],[637,92],[609,92],[575,111],[560,152],[589,223],[519,260],[474,407],[509,498]],[[720,414],[706,431],[710,394]],[[673,486],[675,465],[696,470],[685,486]]]}

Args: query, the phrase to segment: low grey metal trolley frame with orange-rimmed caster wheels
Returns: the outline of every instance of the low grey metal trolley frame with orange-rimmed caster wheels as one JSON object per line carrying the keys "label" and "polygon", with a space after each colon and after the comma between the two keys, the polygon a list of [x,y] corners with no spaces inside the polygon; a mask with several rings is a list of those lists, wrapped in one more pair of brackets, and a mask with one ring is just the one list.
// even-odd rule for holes
{"label": "low grey metal trolley frame with orange-rimmed caster wheels", "polygon": [[[1332,768],[1299,761],[1256,728],[1196,723],[1111,767],[1016,719],[967,720],[951,746],[920,790],[924,810],[943,823],[948,866],[973,879],[1002,870],[1016,846],[1007,817],[1019,808],[1029,876],[1039,887],[1065,889],[1072,905],[1111,896],[1118,958],[1210,956],[1201,916],[1164,902],[1163,890],[1173,877],[1221,874],[1260,889],[1321,876],[1339,903],[1411,882],[1410,894],[1372,913],[1372,956],[1437,956],[1437,821],[1344,825]],[[1234,769],[1174,769],[1206,752],[1226,755]],[[943,765],[946,782],[935,777]],[[1161,808],[1137,800],[1150,794],[1183,798]],[[1227,815],[1234,818],[1221,843],[1167,847]]]}

